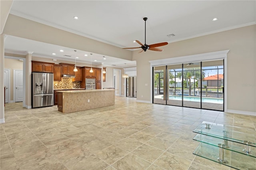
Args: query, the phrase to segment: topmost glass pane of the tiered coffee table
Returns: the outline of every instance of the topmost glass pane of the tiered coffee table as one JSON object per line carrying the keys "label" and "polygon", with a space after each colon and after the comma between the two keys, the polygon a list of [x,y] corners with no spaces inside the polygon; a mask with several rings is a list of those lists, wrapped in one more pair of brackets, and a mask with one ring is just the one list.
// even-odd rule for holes
{"label": "topmost glass pane of the tiered coffee table", "polygon": [[256,147],[256,131],[250,127],[235,127],[204,121],[193,132]]}

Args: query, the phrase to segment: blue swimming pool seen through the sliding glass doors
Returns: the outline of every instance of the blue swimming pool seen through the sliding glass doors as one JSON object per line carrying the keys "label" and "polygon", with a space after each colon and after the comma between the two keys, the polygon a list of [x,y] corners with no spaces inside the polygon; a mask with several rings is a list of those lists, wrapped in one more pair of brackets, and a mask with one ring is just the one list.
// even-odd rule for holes
{"label": "blue swimming pool seen through the sliding glass doors", "polygon": [[[170,100],[182,100],[182,96],[173,96],[169,95]],[[184,101],[195,101],[200,102],[200,97],[194,97],[194,96],[183,96]],[[223,104],[222,98],[212,98],[212,97],[202,97],[202,102],[204,103],[218,103]]]}

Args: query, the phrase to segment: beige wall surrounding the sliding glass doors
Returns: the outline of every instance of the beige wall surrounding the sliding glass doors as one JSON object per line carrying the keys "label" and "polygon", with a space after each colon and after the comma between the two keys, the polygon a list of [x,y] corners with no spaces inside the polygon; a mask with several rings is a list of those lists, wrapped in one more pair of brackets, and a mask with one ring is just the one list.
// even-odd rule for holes
{"label": "beige wall surrounding the sliding glass doors", "polygon": [[[133,52],[137,62],[137,99],[150,101],[151,60],[182,57],[229,49],[228,110],[256,112],[256,25],[246,26],[163,46],[162,52]],[[143,98],[141,97],[143,95]]]}

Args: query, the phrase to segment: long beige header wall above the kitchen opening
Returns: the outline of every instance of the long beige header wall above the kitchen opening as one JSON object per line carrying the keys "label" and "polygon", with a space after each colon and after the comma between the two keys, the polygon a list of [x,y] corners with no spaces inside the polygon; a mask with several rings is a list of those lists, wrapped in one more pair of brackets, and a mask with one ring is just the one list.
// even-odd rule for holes
{"label": "long beige header wall above the kitchen opening", "polygon": [[9,14],[4,34],[131,60],[132,51]]}

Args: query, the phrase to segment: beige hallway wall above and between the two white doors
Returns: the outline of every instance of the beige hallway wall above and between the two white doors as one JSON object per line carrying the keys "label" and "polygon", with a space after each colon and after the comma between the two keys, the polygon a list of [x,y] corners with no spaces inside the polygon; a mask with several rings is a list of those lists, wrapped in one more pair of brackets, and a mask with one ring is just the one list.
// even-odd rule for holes
{"label": "beige hallway wall above and between the two white doors", "polygon": [[23,70],[23,61],[5,58],[4,69],[10,69],[10,101],[13,101],[13,69]]}

